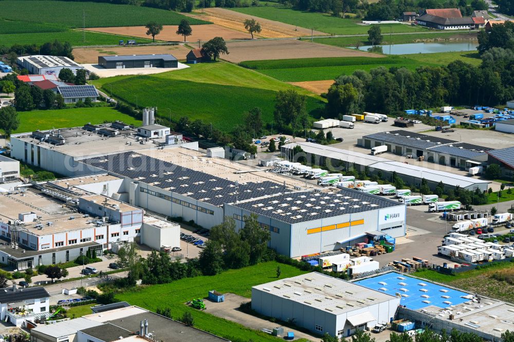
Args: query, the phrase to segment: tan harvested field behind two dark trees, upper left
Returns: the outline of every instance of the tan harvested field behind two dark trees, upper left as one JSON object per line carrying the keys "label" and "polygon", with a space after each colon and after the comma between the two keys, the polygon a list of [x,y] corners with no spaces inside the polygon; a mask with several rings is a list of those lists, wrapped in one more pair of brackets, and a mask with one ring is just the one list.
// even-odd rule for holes
{"label": "tan harvested field behind two dark trees, upper left", "polygon": [[[184,37],[181,35],[177,35],[177,25],[164,25],[162,27],[162,31],[155,37],[160,41],[167,42],[183,42]],[[242,40],[249,39],[250,35],[243,28],[241,30],[235,30],[219,25],[192,25],[193,34],[188,36],[186,40],[191,42],[191,44],[196,44],[198,40],[206,42],[208,40],[213,39],[214,37],[223,37],[226,41],[229,40]],[[112,33],[112,34],[120,34],[127,35],[133,37],[141,37],[148,39],[149,36],[146,35],[146,28],[144,26],[129,26],[129,27],[94,27],[88,28],[86,30],[95,31],[95,32],[103,32],[103,33]]]}

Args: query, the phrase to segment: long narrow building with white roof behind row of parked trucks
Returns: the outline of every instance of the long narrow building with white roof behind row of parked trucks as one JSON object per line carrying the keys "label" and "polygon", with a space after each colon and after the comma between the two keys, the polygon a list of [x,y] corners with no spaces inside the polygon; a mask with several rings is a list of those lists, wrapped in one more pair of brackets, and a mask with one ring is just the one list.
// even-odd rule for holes
{"label": "long narrow building with white roof behind row of parked trucks", "polygon": [[[417,140],[416,140],[417,141]],[[472,177],[461,176],[441,170],[416,166],[412,164],[401,163],[390,159],[373,156],[371,154],[363,154],[355,151],[324,146],[315,143],[290,143],[282,146],[281,153],[286,159],[297,159],[299,155],[293,156],[293,148],[299,145],[306,154],[307,160],[312,160],[314,156],[316,165],[324,165],[333,170],[348,170],[354,167],[362,172],[366,167],[370,173],[380,171],[383,177],[391,177],[393,172],[409,184],[418,185],[421,179],[427,180],[431,189],[434,189],[439,182],[443,182],[445,188],[452,189],[456,186],[468,190],[475,188],[481,191],[487,191],[489,181],[476,179]],[[370,147],[371,148],[371,147]],[[293,158],[294,157],[294,158]]]}

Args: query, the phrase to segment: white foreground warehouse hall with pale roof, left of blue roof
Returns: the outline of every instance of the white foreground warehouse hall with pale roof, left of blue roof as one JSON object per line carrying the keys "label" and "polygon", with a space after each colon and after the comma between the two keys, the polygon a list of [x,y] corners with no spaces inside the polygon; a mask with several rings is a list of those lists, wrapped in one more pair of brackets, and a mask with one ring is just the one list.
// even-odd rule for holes
{"label": "white foreground warehouse hall with pale roof, left of blue roof", "polygon": [[400,305],[394,295],[318,272],[252,287],[252,309],[314,334],[347,337],[388,324]]}

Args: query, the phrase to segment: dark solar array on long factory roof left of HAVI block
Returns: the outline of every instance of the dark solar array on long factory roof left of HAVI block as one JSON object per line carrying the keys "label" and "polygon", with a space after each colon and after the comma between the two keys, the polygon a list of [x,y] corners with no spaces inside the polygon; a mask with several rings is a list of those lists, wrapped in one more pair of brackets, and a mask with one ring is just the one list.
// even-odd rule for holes
{"label": "dark solar array on long factory roof left of HAVI block", "polygon": [[167,161],[125,152],[82,162],[195,200],[221,205],[290,191],[270,181],[237,184]]}

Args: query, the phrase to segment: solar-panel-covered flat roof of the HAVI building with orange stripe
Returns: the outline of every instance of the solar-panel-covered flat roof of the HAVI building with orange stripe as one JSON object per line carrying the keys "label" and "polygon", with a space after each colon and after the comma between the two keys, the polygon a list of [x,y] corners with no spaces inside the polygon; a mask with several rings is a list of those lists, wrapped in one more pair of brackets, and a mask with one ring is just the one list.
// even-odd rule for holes
{"label": "solar-panel-covered flat roof of the HAVI building with orange stripe", "polygon": [[332,192],[295,192],[232,205],[292,224],[403,204],[354,189],[341,188]]}

